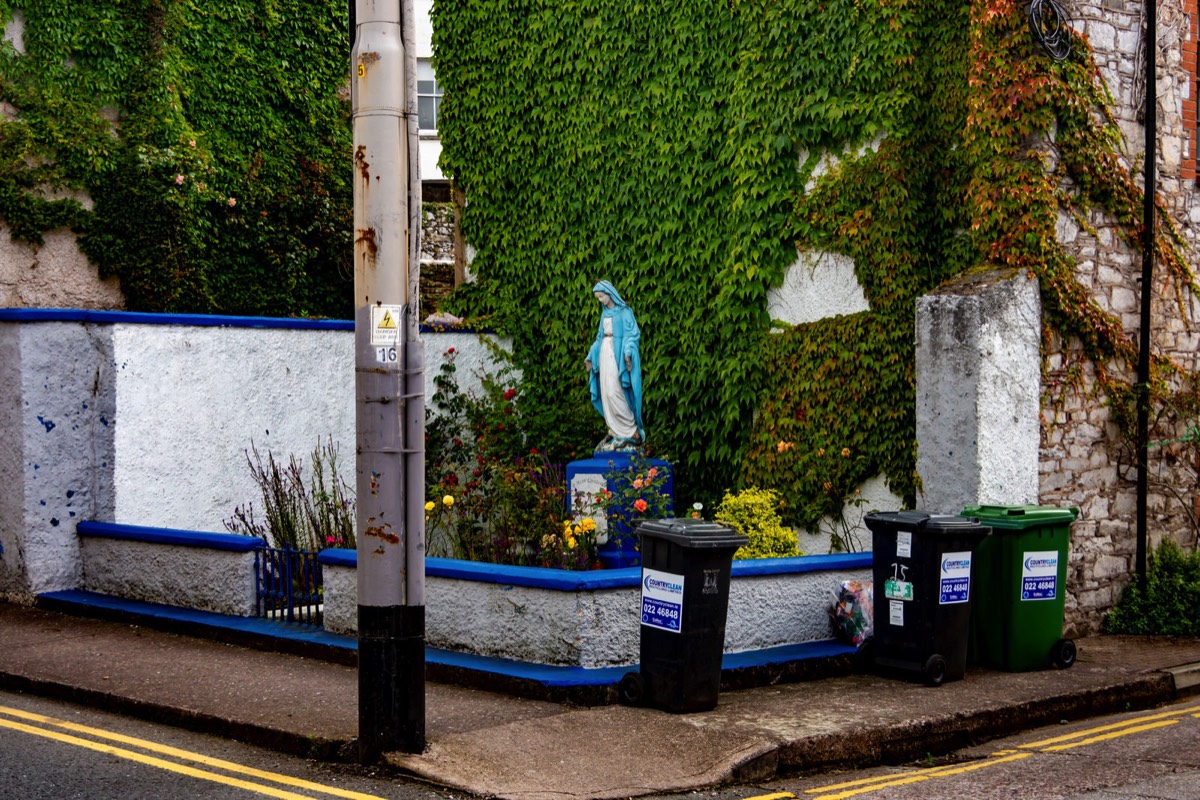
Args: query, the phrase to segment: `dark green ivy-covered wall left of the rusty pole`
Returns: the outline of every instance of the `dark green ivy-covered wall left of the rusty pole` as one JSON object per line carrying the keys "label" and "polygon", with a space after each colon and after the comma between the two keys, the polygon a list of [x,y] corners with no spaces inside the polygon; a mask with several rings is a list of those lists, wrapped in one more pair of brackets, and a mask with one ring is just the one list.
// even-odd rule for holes
{"label": "dark green ivy-covered wall left of the rusty pole", "polygon": [[131,309],[350,315],[344,1],[0,0],[0,22],[14,239],[76,229]]}

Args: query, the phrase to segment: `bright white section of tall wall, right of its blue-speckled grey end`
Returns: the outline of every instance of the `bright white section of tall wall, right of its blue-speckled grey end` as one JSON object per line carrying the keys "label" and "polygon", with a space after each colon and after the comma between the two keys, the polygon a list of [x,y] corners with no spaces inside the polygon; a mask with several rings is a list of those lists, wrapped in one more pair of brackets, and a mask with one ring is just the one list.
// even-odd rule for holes
{"label": "bright white section of tall wall, right of its blue-speckled grey end", "polygon": [[[474,333],[430,333],[427,396],[445,351],[460,385],[479,391],[491,360]],[[245,451],[306,464],[332,437],[354,486],[354,335],[349,331],[118,325],[112,522],[224,530],[253,500]],[[427,397],[427,399],[428,399]]]}

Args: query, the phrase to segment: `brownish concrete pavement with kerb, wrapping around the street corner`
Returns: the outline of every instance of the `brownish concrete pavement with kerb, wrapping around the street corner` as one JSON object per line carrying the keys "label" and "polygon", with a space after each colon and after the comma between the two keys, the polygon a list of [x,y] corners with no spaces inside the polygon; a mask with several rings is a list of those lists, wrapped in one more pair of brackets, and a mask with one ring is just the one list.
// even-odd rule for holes
{"label": "brownish concrete pavement with kerb, wrapping around the street corner", "polygon": [[[937,688],[848,674],[722,691],[691,715],[430,682],[426,752],[388,762],[484,796],[628,798],[912,760],[1200,684],[1200,639],[1078,645],[1066,670],[971,668]],[[356,669],[323,658],[0,603],[0,686],[317,758],[356,753]]]}

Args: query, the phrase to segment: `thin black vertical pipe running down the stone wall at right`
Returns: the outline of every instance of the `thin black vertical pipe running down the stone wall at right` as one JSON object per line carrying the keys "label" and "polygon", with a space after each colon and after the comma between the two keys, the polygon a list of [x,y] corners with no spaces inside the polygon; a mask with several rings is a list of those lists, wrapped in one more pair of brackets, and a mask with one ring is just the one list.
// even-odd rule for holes
{"label": "thin black vertical pipe running down the stone wall at right", "polygon": [[1146,579],[1146,494],[1150,451],[1150,302],[1154,282],[1154,193],[1157,192],[1156,146],[1158,144],[1158,8],[1146,0],[1146,167],[1142,188],[1141,231],[1141,330],[1138,348],[1138,579]]}

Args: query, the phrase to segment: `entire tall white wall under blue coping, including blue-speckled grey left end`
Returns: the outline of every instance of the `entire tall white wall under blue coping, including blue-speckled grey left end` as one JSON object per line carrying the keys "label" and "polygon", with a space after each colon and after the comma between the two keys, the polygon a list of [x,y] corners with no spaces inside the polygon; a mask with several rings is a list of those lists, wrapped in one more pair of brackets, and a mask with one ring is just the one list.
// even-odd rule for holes
{"label": "entire tall white wall under blue coping, including blue-speckled grey left end", "polygon": [[[79,587],[80,519],[224,530],[235,506],[262,505],[252,441],[307,463],[332,437],[354,485],[353,331],[28,313],[0,319],[0,596]],[[422,338],[431,371],[452,347],[460,386],[480,391],[478,335]]]}

